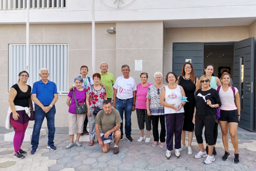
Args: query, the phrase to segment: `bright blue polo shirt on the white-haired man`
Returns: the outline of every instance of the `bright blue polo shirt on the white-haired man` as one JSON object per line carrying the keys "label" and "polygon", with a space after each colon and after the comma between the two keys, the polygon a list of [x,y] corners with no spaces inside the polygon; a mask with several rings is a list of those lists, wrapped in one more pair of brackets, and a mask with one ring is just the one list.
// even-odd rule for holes
{"label": "bright blue polo shirt on the white-haired man", "polygon": [[[53,98],[54,94],[58,94],[57,92],[57,86],[54,82],[49,81],[45,84],[40,81],[36,81],[33,84],[33,89],[31,94],[36,94],[36,98],[45,106],[45,105],[50,105]],[[35,103],[35,105],[37,105]]]}

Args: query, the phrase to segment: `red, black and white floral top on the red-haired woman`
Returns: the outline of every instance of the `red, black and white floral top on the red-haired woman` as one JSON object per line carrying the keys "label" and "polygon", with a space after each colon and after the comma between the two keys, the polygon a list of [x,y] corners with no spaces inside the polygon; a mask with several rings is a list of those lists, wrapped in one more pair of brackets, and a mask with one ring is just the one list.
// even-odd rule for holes
{"label": "red, black and white floral top on the red-haired woman", "polygon": [[103,96],[106,96],[106,89],[102,86],[100,90],[95,90],[93,85],[86,89],[86,94],[90,95],[89,108],[100,108],[103,106]]}

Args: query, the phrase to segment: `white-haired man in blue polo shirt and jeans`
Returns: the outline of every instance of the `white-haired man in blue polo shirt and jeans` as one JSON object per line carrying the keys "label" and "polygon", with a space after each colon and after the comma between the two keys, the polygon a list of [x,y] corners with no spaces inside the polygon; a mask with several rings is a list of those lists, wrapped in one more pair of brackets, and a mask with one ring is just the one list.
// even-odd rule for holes
{"label": "white-haired man in blue polo shirt and jeans", "polygon": [[35,102],[35,124],[32,133],[32,150],[30,154],[36,154],[38,150],[39,135],[44,117],[46,117],[48,128],[47,148],[56,150],[53,140],[55,134],[54,116],[56,113],[54,104],[58,100],[57,86],[54,82],[48,80],[49,73],[46,68],[39,70],[39,76],[42,79],[34,83],[31,93],[31,99]]}

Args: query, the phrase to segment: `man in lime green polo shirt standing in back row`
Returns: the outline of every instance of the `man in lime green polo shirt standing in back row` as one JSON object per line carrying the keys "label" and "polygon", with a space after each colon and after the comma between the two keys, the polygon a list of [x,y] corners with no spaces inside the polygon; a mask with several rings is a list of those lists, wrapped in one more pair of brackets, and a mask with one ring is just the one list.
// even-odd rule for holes
{"label": "man in lime green polo shirt standing in back row", "polygon": [[112,73],[108,72],[108,63],[102,62],[100,64],[100,83],[104,84],[106,87],[106,92],[107,92],[107,98],[108,100],[111,101],[112,103],[112,98],[113,98],[113,85],[115,84],[115,77]]}

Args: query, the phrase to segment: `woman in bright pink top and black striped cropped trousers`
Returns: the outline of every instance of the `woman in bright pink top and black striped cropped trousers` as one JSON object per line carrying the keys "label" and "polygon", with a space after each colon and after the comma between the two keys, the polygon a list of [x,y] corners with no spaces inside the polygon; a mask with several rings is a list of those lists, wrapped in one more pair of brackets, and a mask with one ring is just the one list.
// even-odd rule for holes
{"label": "woman in bright pink top and black striped cropped trousers", "polygon": [[[138,119],[138,125],[140,128],[140,138],[138,142],[145,140],[146,143],[150,141],[150,130],[151,130],[151,115],[147,113],[147,93],[150,83],[148,83],[148,73],[142,72],[140,74],[141,83],[137,85],[136,91],[136,113]],[[146,122],[147,137],[144,136],[144,125]]]}

